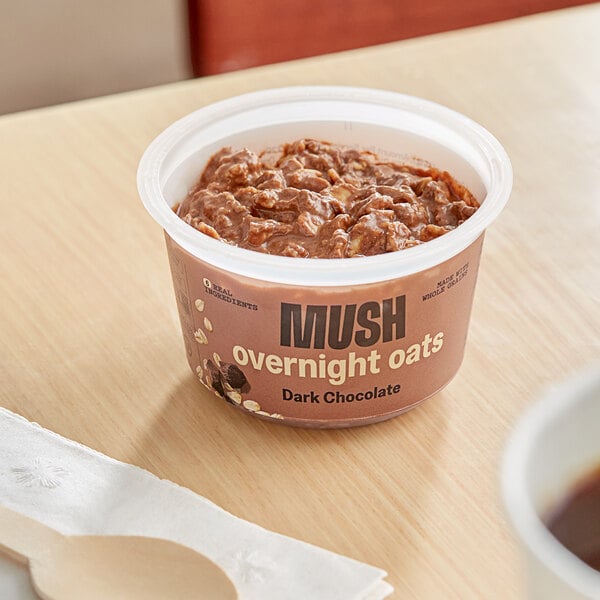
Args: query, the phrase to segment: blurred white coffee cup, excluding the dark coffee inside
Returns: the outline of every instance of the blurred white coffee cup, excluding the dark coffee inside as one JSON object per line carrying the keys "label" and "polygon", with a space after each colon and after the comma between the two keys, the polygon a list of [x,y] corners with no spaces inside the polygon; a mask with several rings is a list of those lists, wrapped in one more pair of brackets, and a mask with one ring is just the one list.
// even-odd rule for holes
{"label": "blurred white coffee cup, excluding the dark coffee inside", "polygon": [[600,599],[600,572],[567,550],[543,518],[600,465],[600,366],[551,389],[518,421],[503,457],[508,517],[526,555],[528,597]]}

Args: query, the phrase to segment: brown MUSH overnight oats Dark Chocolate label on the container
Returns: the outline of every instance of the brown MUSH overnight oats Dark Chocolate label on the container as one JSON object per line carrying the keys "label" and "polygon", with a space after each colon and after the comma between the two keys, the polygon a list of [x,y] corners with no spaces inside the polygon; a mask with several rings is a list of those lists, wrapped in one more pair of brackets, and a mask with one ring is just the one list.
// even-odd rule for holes
{"label": "brown MUSH overnight oats Dark Chocolate label on the container", "polygon": [[244,410],[313,426],[382,420],[460,366],[483,235],[414,275],[320,288],[222,271],[166,240],[189,364]]}

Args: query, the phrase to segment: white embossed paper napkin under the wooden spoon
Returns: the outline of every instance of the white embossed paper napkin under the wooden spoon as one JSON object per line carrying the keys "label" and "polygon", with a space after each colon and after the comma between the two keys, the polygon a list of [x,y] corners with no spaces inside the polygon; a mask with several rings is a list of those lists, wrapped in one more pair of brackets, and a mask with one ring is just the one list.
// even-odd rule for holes
{"label": "white embossed paper napkin under the wooden spoon", "polygon": [[[240,600],[380,600],[393,591],[381,569],[239,519],[4,408],[0,503],[64,534],[147,535],[190,546],[223,567]],[[0,563],[0,598],[29,598],[16,595],[24,577],[9,581],[10,568]]]}

